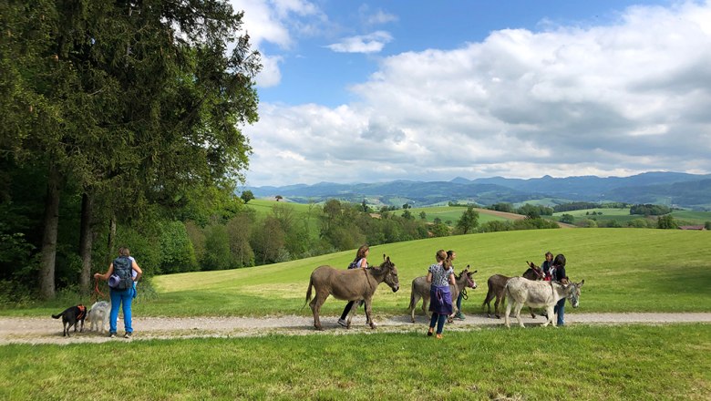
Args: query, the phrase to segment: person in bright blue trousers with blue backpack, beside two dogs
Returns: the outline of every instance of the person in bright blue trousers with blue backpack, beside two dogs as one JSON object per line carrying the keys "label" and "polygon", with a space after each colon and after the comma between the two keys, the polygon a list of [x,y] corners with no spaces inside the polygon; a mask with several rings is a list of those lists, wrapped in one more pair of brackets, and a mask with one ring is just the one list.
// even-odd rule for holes
{"label": "person in bright blue trousers with blue backpack, beside two dogs", "polygon": [[[124,338],[131,338],[131,302],[135,289],[133,283],[138,282],[143,275],[139,264],[130,257],[129,248],[121,248],[118,258],[108,264],[108,271],[101,274],[95,273],[94,278],[108,280],[109,296],[111,298],[111,313],[109,319],[108,336],[116,337],[118,308],[123,309],[123,324],[126,330]],[[136,275],[133,275],[136,272]]]}

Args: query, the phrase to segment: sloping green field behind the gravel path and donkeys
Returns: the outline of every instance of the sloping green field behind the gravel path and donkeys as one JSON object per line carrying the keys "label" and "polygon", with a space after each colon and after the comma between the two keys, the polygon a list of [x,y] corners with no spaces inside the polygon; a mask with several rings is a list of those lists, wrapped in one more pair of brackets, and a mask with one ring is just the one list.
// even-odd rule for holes
{"label": "sloping green field behind the gravel path and donkeys", "polygon": [[[407,314],[410,283],[425,275],[438,249],[458,252],[457,271],[470,264],[479,288],[469,291],[465,314],[479,313],[487,278],[520,275],[526,261],[541,263],[543,253],[564,253],[573,281],[585,279],[578,312],[711,312],[711,231],[581,229],[505,231],[399,242],[371,248],[369,262],[383,253],[397,264],[400,291],[386,286],[374,298],[377,314]],[[355,251],[254,268],[158,276],[156,299],[139,299],[139,315],[308,315],[303,308],[309,275],[315,267],[343,267]],[[143,284],[144,286],[146,284]],[[140,287],[139,287],[140,289]],[[88,299],[63,300],[88,303]],[[0,310],[4,315],[56,314],[62,304]],[[335,315],[342,302],[326,301],[323,314]],[[568,311],[566,311],[568,312]]]}

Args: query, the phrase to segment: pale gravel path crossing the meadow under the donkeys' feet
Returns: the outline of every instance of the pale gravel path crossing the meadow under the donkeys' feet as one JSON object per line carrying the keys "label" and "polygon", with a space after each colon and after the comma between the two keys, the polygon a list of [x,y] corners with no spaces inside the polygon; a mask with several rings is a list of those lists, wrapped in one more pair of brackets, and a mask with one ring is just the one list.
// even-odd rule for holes
{"label": "pale gravel path crossing the meadow under the donkeys' feet", "polygon": [[[523,317],[523,314],[521,314]],[[428,318],[416,315],[417,323],[412,324],[409,315],[377,317],[378,327],[375,331],[366,326],[366,317],[357,314],[353,318],[351,329],[346,330],[336,323],[337,316],[322,316],[324,331],[316,332],[313,328],[314,319],[306,316],[266,316],[266,317],[136,317],[133,321],[135,330],[133,339],[173,339],[194,337],[245,337],[266,334],[364,334],[382,332],[409,332],[427,329]],[[674,324],[674,323],[711,323],[711,313],[685,314],[565,314],[566,324]],[[527,326],[542,324],[539,316],[531,319],[523,317]],[[516,324],[515,319],[512,324]],[[503,319],[487,318],[482,315],[469,315],[466,320],[456,320],[448,324],[448,331],[477,330],[483,326],[503,327]],[[106,334],[89,332],[90,324],[85,323],[83,333],[72,337],[62,337],[61,320],[51,317],[0,317],[0,345],[3,344],[76,344],[102,343],[106,341],[127,341],[122,337],[110,339]],[[123,323],[118,321],[119,334],[122,334]],[[108,328],[108,327],[107,327]]]}

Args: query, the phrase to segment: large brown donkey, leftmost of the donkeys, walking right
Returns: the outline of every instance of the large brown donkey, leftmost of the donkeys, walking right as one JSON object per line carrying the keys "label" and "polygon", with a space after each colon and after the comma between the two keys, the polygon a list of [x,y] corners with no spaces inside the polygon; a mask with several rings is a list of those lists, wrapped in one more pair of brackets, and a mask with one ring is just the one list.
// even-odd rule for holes
{"label": "large brown donkey, leftmost of the donkeys, walking right", "polygon": [[[384,262],[380,266],[368,269],[343,270],[326,265],[315,268],[314,272],[311,273],[309,289],[306,291],[306,303],[311,300],[311,288],[314,287],[316,293],[309,306],[314,312],[314,327],[316,330],[323,330],[318,314],[321,312],[321,305],[325,303],[328,295],[333,295],[335,299],[344,301],[364,300],[366,302],[366,321],[371,328],[376,328],[370,303],[373,294],[376,293],[378,284],[385,282],[393,290],[393,293],[400,288],[395,263],[390,262],[390,257],[385,254],[383,259]],[[306,303],[304,303],[304,306]],[[348,328],[351,326],[354,309],[356,308],[351,308],[351,312],[348,314],[348,324],[346,325]]]}

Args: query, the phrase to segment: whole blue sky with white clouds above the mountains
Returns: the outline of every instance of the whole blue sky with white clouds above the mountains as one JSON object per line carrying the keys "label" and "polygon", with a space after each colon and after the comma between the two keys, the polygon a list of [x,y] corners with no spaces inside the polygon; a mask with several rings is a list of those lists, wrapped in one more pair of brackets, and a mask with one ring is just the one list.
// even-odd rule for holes
{"label": "whole blue sky with white clouds above the mountains", "polygon": [[230,0],[252,187],[711,173],[711,0]]}

